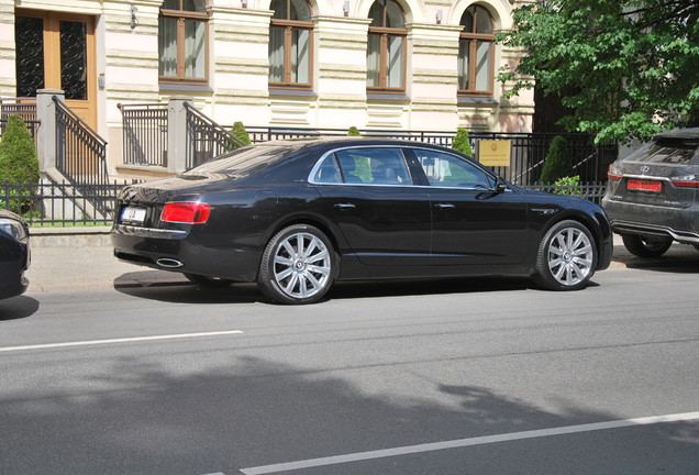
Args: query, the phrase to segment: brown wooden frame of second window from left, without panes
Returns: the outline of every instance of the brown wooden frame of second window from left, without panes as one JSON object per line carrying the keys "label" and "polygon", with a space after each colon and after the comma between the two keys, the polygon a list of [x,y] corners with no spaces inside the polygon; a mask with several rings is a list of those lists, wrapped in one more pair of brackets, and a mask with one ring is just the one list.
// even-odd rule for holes
{"label": "brown wooden frame of second window from left, without panes", "polygon": [[[313,9],[310,2],[306,1],[306,5],[308,7],[309,13],[312,18]],[[273,27],[284,27],[284,80],[282,81],[273,81],[269,77],[271,75],[271,60],[269,62],[269,75],[268,84],[270,88],[282,88],[282,89],[302,89],[302,90],[311,90],[313,88],[313,42],[314,42],[314,24],[313,21],[302,21],[302,20],[291,20],[291,0],[286,0],[287,2],[287,18],[286,19],[276,19],[271,18],[269,21],[269,45],[271,45],[271,30]],[[293,32],[298,30],[306,30],[309,32],[309,52],[308,52],[308,82],[292,82],[292,68],[291,68],[291,51],[293,48]],[[269,53],[271,56],[271,53]]]}

